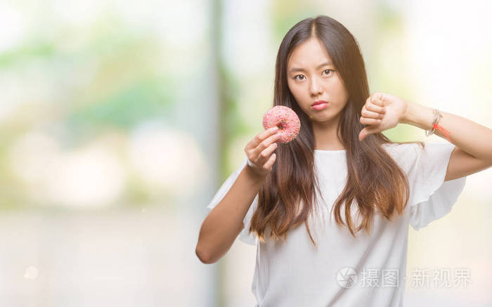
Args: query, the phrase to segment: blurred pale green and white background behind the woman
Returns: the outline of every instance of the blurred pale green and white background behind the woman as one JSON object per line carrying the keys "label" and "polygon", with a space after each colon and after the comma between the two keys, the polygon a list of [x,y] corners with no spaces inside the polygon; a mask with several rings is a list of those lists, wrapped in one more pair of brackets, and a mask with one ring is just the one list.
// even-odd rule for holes
{"label": "blurred pale green and white background behind the woman", "polygon": [[[0,0],[0,306],[254,306],[256,249],[195,256],[299,20],[354,34],[370,91],[491,128],[488,1]],[[393,141],[445,141],[400,124]],[[492,171],[410,228],[405,306],[492,306]],[[402,238],[402,240],[404,240]],[[451,275],[453,277],[453,275]]]}

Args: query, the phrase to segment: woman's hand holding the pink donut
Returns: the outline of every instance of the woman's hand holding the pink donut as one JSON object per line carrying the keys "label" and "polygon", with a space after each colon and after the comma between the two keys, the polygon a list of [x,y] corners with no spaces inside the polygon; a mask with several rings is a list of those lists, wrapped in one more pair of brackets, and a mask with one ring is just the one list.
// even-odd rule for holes
{"label": "woman's hand holding the pink donut", "polygon": [[271,172],[276,154],[273,153],[278,147],[275,143],[280,137],[278,127],[272,127],[261,131],[247,143],[245,152],[251,164],[246,164],[250,171],[260,177],[265,177]]}

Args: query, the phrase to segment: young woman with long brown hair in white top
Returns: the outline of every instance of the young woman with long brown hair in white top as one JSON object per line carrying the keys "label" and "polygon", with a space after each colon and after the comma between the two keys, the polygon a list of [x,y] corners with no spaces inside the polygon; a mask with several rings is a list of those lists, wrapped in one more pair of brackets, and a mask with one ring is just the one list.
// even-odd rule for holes
{"label": "young woman with long brown hair in white top", "polygon": [[[247,143],[207,206],[196,254],[214,263],[238,235],[256,245],[257,306],[402,306],[408,225],[447,214],[466,176],[492,165],[492,130],[370,94],[356,39],[323,15],[285,35],[274,91],[301,131],[290,143],[278,145],[274,129]],[[381,132],[399,123],[447,141],[391,142]]]}

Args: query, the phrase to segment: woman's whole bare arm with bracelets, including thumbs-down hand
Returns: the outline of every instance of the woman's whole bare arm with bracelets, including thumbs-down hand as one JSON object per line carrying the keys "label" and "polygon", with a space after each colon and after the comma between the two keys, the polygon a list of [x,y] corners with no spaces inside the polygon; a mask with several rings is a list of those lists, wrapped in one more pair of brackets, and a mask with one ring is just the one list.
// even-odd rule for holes
{"label": "woman's whole bare arm with bracelets, including thumbs-down hand", "polygon": [[[448,112],[441,112],[439,121],[449,132],[450,141],[455,145],[449,158],[444,181],[450,181],[475,174],[492,166],[492,129]],[[378,121],[379,119],[379,121]],[[410,124],[421,129],[430,129],[434,113],[429,107],[403,100],[389,93],[373,93],[361,110],[361,124],[369,125],[359,133],[363,140],[370,133],[393,128],[399,123]],[[445,138],[436,129],[436,136]]]}

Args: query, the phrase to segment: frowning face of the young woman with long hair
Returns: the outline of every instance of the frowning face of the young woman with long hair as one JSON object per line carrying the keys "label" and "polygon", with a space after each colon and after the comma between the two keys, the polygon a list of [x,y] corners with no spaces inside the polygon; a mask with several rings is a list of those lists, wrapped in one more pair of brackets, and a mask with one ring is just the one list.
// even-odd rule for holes
{"label": "frowning face of the young woman with long hair", "polygon": [[[324,46],[316,38],[294,48],[287,60],[287,84],[301,109],[314,122],[337,117],[347,104],[348,93]],[[313,107],[323,100],[328,104]]]}

